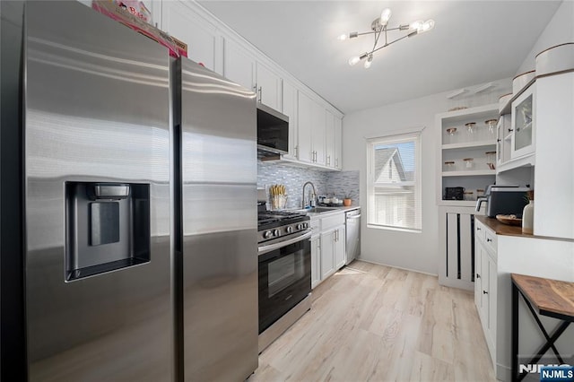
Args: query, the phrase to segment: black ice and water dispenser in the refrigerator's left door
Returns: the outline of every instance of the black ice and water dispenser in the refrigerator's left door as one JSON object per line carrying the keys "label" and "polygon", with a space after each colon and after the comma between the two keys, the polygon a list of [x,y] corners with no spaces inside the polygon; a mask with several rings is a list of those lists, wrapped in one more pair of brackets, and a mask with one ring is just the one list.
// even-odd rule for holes
{"label": "black ice and water dispenser in the refrigerator's left door", "polygon": [[150,185],[66,182],[65,280],[150,261]]}

